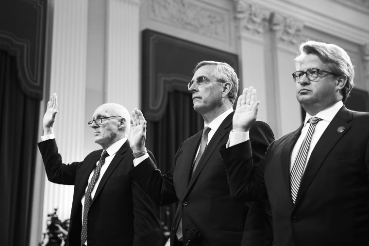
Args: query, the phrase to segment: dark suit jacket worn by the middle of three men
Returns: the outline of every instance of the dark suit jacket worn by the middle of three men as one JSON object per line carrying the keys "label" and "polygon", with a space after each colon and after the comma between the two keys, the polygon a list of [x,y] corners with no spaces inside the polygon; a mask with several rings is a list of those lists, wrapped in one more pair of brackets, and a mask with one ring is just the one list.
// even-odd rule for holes
{"label": "dark suit jacket worn by the middle of three men", "polygon": [[[187,242],[187,230],[197,229],[201,232],[198,246],[240,246],[246,215],[252,211],[259,213],[259,216],[250,216],[250,223],[254,224],[248,225],[245,238],[253,244],[248,245],[271,245],[271,223],[268,214],[263,211],[268,206],[263,204],[264,207],[255,207],[260,202],[245,205],[245,202],[236,201],[230,195],[219,148],[228,141],[232,117],[233,113],[228,115],[215,132],[192,179],[191,167],[200,145],[202,131],[181,144],[175,156],[174,167],[166,175],[161,175],[150,158],[130,172],[156,203],[165,205],[179,202],[171,229],[171,245],[182,217],[184,245]],[[259,121],[250,134],[253,136],[252,153],[256,160],[260,160],[274,139],[273,133],[266,123]],[[266,238],[268,244],[260,244]]]}

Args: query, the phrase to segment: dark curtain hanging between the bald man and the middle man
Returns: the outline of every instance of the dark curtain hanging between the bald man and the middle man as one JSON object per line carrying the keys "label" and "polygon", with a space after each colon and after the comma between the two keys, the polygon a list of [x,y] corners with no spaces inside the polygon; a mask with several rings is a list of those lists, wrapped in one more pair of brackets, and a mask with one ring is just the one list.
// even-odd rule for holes
{"label": "dark curtain hanging between the bald man and the middle man", "polygon": [[[145,112],[143,112],[145,115]],[[153,152],[158,168],[163,174],[174,165],[174,155],[183,141],[201,131],[203,118],[193,110],[192,96],[189,92],[168,92],[166,113],[159,121],[148,121],[147,147]],[[177,205],[161,209],[161,221],[169,229],[174,219]]]}

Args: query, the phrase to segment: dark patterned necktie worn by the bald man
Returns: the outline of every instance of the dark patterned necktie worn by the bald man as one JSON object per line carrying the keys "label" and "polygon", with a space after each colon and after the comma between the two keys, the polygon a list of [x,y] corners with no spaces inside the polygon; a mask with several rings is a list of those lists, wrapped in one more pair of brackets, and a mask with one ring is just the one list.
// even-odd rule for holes
{"label": "dark patterned necktie worn by the bald man", "polygon": [[82,231],[81,231],[81,245],[84,245],[84,242],[86,242],[86,239],[87,239],[87,214],[88,214],[88,210],[90,209],[90,205],[91,205],[91,191],[93,190],[96,181],[99,179],[101,166],[105,163],[105,158],[107,156],[109,156],[109,154],[108,152],[106,152],[106,150],[104,150],[96,166],[94,174],[92,175],[92,178],[90,182],[88,183],[87,191],[84,196],[84,219],[83,219]]}

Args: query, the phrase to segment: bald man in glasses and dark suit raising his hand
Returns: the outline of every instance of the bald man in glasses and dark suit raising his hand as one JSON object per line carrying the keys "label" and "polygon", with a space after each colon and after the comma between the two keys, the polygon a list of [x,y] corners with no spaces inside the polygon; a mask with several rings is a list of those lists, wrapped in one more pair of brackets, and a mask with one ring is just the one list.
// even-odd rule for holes
{"label": "bald man in glasses and dark suit raising his hand", "polygon": [[128,174],[134,160],[126,137],[128,111],[115,103],[98,107],[88,124],[94,130],[95,143],[103,149],[67,165],[62,163],[53,135],[57,112],[54,94],[44,115],[44,136],[38,147],[48,179],[74,185],[69,246],[155,246],[159,207]]}

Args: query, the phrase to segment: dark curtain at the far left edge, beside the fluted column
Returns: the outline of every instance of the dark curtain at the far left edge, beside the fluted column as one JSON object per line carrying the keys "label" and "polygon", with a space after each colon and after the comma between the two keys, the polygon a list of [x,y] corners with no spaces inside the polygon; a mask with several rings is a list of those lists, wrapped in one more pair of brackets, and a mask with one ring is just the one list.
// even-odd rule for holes
{"label": "dark curtain at the far left edge, beside the fluted column", "polygon": [[16,57],[0,50],[0,245],[29,244],[39,103],[23,93]]}

